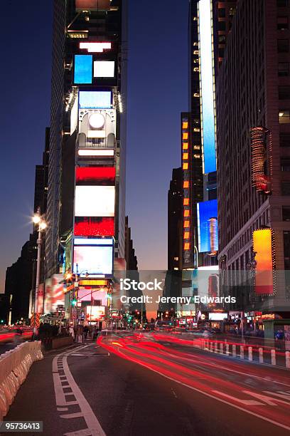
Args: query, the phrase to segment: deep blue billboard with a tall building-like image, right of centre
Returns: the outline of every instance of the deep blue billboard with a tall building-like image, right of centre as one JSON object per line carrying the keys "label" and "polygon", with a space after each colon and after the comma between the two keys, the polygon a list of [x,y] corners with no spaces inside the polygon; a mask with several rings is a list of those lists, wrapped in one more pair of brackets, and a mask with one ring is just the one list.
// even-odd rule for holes
{"label": "deep blue billboard with a tall building-like image, right of centre", "polygon": [[216,254],[218,251],[218,200],[197,204],[198,249],[200,253]]}

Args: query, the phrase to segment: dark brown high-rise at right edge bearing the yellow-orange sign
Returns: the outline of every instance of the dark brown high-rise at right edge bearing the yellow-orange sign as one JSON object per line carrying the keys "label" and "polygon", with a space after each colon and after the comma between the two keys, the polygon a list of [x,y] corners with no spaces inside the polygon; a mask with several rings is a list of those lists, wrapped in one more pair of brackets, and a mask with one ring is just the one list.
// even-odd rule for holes
{"label": "dark brown high-rise at right edge bearing the yellow-orange sign", "polygon": [[289,305],[289,13],[240,0],[217,83],[220,265],[254,270],[244,303],[272,311]]}

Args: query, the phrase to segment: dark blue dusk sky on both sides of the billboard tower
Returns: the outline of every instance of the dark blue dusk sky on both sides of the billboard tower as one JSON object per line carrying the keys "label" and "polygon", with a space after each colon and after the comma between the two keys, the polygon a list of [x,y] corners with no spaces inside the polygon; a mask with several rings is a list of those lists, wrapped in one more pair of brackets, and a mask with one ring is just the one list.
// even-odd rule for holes
{"label": "dark blue dusk sky on both sides of the billboard tower", "polygon": [[[163,269],[167,191],[188,108],[188,0],[129,5],[127,214],[139,268]],[[35,165],[50,123],[52,1],[1,0],[1,8],[0,292],[31,232]]]}

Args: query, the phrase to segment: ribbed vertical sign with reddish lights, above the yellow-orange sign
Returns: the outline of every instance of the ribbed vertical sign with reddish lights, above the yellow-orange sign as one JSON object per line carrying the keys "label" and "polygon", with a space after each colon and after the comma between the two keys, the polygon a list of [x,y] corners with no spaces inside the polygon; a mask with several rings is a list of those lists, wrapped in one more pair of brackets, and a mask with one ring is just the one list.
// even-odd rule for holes
{"label": "ribbed vertical sign with reddish lights, above the yellow-orange sign", "polygon": [[252,186],[258,192],[271,193],[272,135],[263,127],[251,129]]}

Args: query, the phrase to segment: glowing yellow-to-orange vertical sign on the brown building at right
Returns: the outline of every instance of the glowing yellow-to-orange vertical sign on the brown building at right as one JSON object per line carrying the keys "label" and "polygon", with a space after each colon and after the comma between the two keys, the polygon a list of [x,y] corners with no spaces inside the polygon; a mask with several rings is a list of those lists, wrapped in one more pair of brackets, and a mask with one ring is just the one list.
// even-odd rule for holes
{"label": "glowing yellow-to-orange vertical sign on the brown building at right", "polygon": [[253,232],[253,250],[256,269],[254,286],[256,294],[274,294],[275,277],[275,242],[272,229],[258,229]]}

